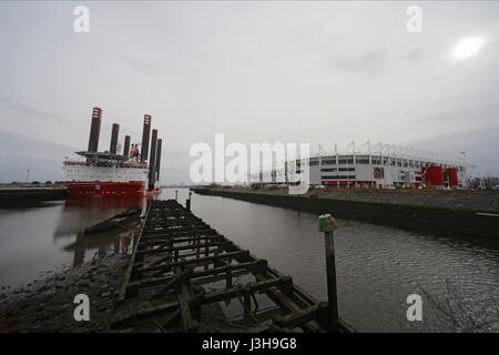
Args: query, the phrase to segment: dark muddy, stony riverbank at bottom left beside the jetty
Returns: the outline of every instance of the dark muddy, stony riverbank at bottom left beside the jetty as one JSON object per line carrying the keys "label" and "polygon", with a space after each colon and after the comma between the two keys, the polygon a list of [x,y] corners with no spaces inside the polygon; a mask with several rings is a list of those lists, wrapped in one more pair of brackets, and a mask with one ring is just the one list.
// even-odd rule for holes
{"label": "dark muddy, stony riverbank at bottom left beside the jetty", "polygon": [[[113,316],[115,293],[130,255],[94,258],[62,272],[49,272],[28,285],[0,290],[0,332],[105,332]],[[77,322],[74,296],[90,300],[90,322]]]}

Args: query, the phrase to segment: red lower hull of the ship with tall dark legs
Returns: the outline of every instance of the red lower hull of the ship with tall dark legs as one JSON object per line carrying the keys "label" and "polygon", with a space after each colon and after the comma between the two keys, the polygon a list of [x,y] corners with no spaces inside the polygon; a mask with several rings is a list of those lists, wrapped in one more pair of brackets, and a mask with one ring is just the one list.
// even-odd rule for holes
{"label": "red lower hull of the ship with tall dark legs", "polygon": [[67,182],[70,196],[118,195],[143,196],[145,184],[136,182]]}

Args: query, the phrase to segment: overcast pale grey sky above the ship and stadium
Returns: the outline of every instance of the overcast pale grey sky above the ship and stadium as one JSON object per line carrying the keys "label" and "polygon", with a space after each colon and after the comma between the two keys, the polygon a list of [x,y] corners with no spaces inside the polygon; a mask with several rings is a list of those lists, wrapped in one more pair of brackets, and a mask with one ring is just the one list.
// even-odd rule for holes
{"label": "overcast pale grey sky above the ship and stadium", "polygon": [[[422,32],[406,30],[410,4]],[[90,33],[73,9],[90,9]],[[483,40],[457,61],[464,38]],[[387,142],[499,175],[499,2],[1,2],[0,181],[63,178],[93,106],[139,142],[150,113],[162,183],[195,142]]]}

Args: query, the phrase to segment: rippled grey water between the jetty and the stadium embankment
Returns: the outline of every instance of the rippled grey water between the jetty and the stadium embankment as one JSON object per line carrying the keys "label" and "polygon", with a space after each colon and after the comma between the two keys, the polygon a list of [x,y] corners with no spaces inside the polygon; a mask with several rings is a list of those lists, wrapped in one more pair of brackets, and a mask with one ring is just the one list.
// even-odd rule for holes
{"label": "rippled grey water between the jetty and the stadium embankment", "polygon": [[[218,196],[193,195],[193,211],[326,300],[317,216]],[[438,237],[339,220],[335,233],[339,314],[361,332],[498,332],[499,243]],[[418,293],[424,322],[408,322]]]}

